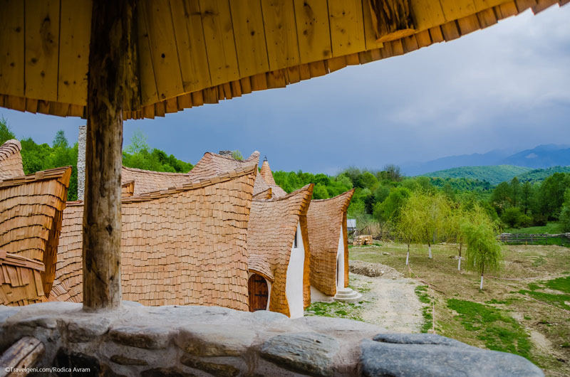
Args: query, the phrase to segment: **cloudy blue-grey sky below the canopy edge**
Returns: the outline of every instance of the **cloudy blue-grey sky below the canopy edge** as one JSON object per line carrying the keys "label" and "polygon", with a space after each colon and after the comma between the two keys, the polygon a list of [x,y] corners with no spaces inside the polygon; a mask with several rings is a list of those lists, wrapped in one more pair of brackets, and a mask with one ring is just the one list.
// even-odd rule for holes
{"label": "cloudy blue-grey sky below the canopy edge", "polygon": [[[254,150],[274,170],[427,161],[492,149],[570,144],[570,6],[284,89],[125,122],[151,147],[195,163],[207,151]],[[70,141],[85,121],[0,108],[16,137]]]}

